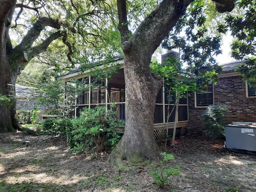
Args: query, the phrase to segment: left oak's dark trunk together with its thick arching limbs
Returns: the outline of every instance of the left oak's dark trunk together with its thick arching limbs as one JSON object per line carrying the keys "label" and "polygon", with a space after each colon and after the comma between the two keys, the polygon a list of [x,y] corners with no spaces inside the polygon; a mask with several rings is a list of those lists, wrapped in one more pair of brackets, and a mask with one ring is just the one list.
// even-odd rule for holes
{"label": "left oak's dark trunk together with its thick arching limbs", "polygon": [[17,76],[38,53],[46,50],[48,45],[61,36],[61,33],[50,34],[42,44],[32,47],[40,32],[51,26],[60,29],[60,21],[51,18],[39,18],[30,28],[22,42],[12,48],[9,28],[16,6],[16,0],[0,0],[0,94],[9,96],[12,105],[0,103],[0,132],[13,132],[22,130],[16,120],[15,83]]}

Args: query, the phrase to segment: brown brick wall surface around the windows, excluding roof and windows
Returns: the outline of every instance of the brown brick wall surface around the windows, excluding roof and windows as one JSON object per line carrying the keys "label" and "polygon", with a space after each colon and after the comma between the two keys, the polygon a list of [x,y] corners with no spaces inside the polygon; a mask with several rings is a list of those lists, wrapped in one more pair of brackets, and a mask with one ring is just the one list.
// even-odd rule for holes
{"label": "brown brick wall surface around the windows, excluding roof and windows", "polygon": [[[256,122],[256,98],[246,98],[246,85],[241,76],[220,78],[214,85],[214,104],[226,104],[229,109],[227,124],[233,121]],[[194,92],[188,98],[188,131],[203,134],[202,112],[206,108],[196,108]]]}

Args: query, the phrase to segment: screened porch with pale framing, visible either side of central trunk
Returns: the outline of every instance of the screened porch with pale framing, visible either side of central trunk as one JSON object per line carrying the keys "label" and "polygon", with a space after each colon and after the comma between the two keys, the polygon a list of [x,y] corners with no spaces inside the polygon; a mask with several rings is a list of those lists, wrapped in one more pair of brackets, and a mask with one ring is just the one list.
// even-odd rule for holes
{"label": "screened porch with pale framing, visible either side of central trunk", "polygon": [[[82,95],[78,96],[76,103],[74,104],[74,111],[71,116],[79,116],[79,111],[84,107],[95,108],[99,106],[108,106],[110,103],[115,103],[117,111],[117,118],[119,120],[125,121],[125,112],[126,112],[126,93],[125,93],[125,83],[124,83],[124,69],[123,69],[123,58],[116,58],[113,60],[113,63],[109,66],[120,65],[118,73],[114,74],[111,79],[104,79],[105,82],[108,82],[108,86],[91,86],[84,90]],[[97,64],[97,67],[101,67],[100,64]],[[71,79],[78,79],[80,81],[86,81],[88,84],[91,84],[95,78],[90,76],[92,72],[83,72],[79,70],[74,70],[65,76],[62,76],[64,81],[68,82]],[[103,85],[106,83],[103,83]],[[174,107],[174,103],[170,104],[169,111]],[[166,138],[166,119],[167,119],[167,110],[168,110],[168,101],[167,95],[164,92],[164,87],[162,87],[156,98],[156,107],[154,114],[154,136],[156,140],[163,140]],[[174,110],[175,111],[175,110]],[[168,134],[172,135],[174,127],[174,112],[169,118],[168,125]],[[177,134],[183,132],[183,128],[188,126],[188,102],[187,99],[180,99],[180,106],[178,108],[178,125],[177,125]]]}

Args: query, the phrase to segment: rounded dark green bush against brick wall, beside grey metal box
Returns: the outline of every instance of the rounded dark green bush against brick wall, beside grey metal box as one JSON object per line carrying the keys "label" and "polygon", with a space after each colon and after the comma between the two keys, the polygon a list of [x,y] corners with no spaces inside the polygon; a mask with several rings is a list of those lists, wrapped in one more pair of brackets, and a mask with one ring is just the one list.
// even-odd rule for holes
{"label": "rounded dark green bush against brick wall, beside grey metal box", "polygon": [[211,105],[204,110],[202,124],[210,137],[215,139],[224,136],[226,114],[228,114],[228,107],[224,104]]}

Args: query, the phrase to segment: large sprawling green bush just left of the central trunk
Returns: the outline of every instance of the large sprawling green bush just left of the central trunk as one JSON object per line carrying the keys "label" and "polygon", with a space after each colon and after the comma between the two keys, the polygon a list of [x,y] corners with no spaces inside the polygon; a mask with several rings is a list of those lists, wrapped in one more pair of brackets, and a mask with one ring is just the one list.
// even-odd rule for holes
{"label": "large sprawling green bush just left of the central trunk", "polygon": [[79,153],[85,149],[100,152],[115,146],[121,138],[115,128],[124,126],[124,122],[114,117],[114,112],[106,111],[105,107],[84,108],[79,118],[72,119],[74,130],[68,133],[73,152]]}

